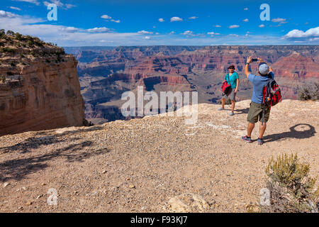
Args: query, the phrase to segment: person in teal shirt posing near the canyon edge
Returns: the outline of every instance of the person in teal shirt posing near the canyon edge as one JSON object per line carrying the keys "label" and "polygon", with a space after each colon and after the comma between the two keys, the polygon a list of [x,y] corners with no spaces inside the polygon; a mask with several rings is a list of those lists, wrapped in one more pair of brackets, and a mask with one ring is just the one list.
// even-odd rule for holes
{"label": "person in teal shirt posing near the canyon edge", "polygon": [[222,96],[222,107],[218,109],[218,111],[224,110],[225,106],[225,99],[229,96],[230,101],[232,102],[232,111],[230,112],[230,116],[234,115],[234,109],[235,109],[235,97],[237,94],[238,86],[239,86],[239,76],[237,72],[235,72],[235,65],[230,65],[228,67],[228,74],[225,75],[224,82],[227,81],[228,84],[230,84],[231,92],[229,94],[224,94]]}

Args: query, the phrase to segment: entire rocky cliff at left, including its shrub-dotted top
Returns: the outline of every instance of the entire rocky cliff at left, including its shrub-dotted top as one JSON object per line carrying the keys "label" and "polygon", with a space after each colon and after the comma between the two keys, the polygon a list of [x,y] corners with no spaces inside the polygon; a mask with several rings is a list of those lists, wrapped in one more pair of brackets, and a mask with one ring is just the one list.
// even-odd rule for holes
{"label": "entire rocky cliff at left, including its shrub-dotted top", "polygon": [[77,60],[30,36],[0,40],[0,135],[82,126]]}

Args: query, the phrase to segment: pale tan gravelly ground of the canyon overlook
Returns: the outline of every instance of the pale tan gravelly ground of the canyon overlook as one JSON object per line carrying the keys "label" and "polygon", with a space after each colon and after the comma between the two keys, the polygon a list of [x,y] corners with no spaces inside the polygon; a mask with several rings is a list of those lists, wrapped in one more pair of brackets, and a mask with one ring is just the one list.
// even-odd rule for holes
{"label": "pale tan gravelly ground of the canyon overlook", "polygon": [[249,104],[238,102],[235,116],[230,106],[199,104],[194,125],[159,115],[4,135],[0,212],[172,212],[185,195],[201,200],[186,211],[245,212],[259,201],[272,155],[297,153],[318,175],[319,102],[274,106],[264,145],[258,127],[254,143],[240,139]]}

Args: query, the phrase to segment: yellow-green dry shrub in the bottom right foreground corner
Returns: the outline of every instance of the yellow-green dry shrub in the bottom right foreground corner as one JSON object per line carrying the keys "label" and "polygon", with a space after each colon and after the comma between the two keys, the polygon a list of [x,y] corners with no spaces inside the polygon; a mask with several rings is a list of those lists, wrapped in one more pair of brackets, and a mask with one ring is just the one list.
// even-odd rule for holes
{"label": "yellow-green dry shrub in the bottom right foreground corner", "polygon": [[[262,212],[318,212],[319,190],[315,178],[308,176],[310,167],[299,162],[297,155],[272,157],[266,168],[270,205],[259,204]],[[247,211],[252,211],[252,206]]]}

